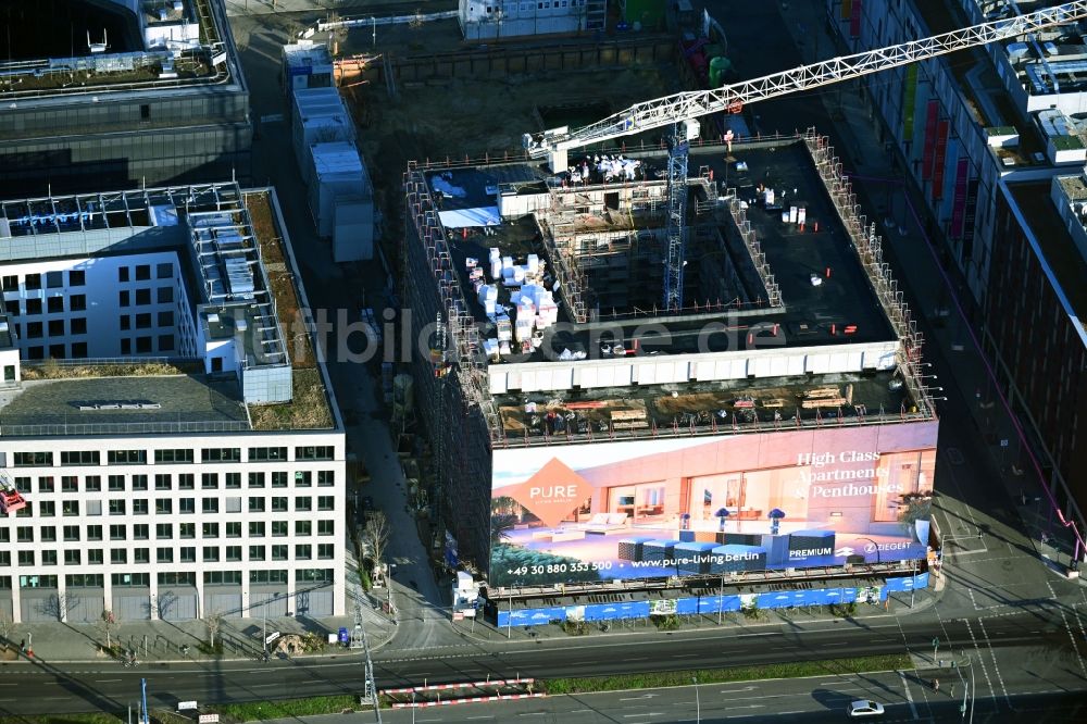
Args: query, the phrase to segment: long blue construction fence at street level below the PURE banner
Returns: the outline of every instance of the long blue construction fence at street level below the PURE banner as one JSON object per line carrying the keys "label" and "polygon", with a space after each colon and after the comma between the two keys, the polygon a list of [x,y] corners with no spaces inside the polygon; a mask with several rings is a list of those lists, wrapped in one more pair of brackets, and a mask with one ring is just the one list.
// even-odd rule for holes
{"label": "long blue construction fence at street level below the PURE banner", "polygon": [[[539,609],[498,611],[496,624],[502,626],[542,626],[563,621],[624,621],[648,619],[651,615],[699,615],[728,613],[754,607],[761,610],[787,609],[801,606],[835,603],[879,603],[890,594],[928,587],[928,573],[887,578],[880,585],[839,588],[775,590],[764,594],[729,594],[726,596],[692,596],[688,598],[627,601],[623,603],[587,603],[585,606],[549,606]],[[493,602],[492,602],[493,606]],[[492,614],[493,615],[493,614]]]}

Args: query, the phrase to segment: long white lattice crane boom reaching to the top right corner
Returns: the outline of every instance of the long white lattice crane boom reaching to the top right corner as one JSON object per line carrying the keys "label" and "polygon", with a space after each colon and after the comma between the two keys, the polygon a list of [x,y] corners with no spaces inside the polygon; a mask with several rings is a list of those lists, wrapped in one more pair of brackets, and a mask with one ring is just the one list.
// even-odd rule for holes
{"label": "long white lattice crane boom reaching to the top right corner", "polygon": [[685,91],[635,103],[625,111],[574,130],[562,127],[546,130],[535,137],[526,134],[524,146],[532,158],[549,157],[551,171],[559,173],[565,171],[566,151],[573,148],[671,126],[708,113],[741,107],[744,103],[850,80],[870,73],[1035,33],[1083,17],[1087,17],[1087,0],[1066,2],[921,40],[832,58],[721,88]]}

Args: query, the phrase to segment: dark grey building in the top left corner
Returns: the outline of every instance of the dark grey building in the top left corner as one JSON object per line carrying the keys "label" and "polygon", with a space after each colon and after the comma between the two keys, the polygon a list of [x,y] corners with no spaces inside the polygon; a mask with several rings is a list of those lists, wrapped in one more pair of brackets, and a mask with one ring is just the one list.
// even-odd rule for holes
{"label": "dark grey building in the top left corner", "polygon": [[2,3],[0,25],[0,197],[248,179],[223,3]]}

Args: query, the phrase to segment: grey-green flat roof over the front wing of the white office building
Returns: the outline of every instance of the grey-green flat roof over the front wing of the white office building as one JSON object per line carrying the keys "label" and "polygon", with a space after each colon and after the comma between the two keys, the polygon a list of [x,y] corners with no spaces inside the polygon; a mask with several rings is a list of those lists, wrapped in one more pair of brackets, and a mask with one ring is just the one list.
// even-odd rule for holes
{"label": "grey-green flat roof over the front wing of the white office building", "polygon": [[47,379],[0,391],[4,437],[248,429],[238,385],[203,375]]}

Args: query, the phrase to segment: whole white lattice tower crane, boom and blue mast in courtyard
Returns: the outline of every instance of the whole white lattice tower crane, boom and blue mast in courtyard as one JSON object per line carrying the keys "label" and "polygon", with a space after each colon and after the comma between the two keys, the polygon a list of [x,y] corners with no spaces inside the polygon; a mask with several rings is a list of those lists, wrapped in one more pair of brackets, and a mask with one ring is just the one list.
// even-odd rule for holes
{"label": "whole white lattice tower crane, boom and blue mast in courtyard", "polygon": [[569,126],[562,126],[545,130],[542,134],[525,134],[522,140],[529,158],[546,158],[552,173],[561,173],[567,167],[566,153],[571,149],[665,126],[672,127],[669,137],[664,308],[677,310],[683,307],[683,226],[687,203],[687,151],[690,141],[698,137],[699,116],[720,111],[738,112],[746,103],[851,80],[957,50],[1029,35],[1084,17],[1087,17],[1087,0],[1065,2],[1053,8],[972,25],[920,40],[832,58],[721,88],[691,90],[642,101],[582,128],[571,129]]}

